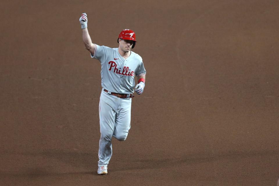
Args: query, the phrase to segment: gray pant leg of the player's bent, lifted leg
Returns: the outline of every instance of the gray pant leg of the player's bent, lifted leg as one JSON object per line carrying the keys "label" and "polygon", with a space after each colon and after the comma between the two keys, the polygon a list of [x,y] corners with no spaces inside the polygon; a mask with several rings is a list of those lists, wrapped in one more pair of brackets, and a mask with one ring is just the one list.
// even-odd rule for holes
{"label": "gray pant leg of the player's bent, lifted leg", "polygon": [[132,99],[121,99],[116,110],[115,128],[113,137],[119,141],[126,140],[131,122],[131,103]]}

